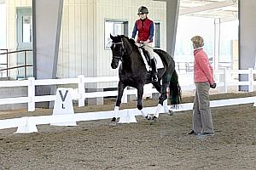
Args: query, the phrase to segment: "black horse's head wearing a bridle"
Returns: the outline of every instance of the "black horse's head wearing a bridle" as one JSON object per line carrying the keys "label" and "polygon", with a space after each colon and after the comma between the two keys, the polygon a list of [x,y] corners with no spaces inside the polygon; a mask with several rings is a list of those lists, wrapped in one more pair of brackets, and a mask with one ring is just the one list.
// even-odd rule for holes
{"label": "black horse's head wearing a bridle", "polygon": [[119,65],[119,60],[122,59],[123,55],[125,54],[125,47],[121,36],[113,37],[110,34],[110,38],[112,39],[112,62],[111,67],[116,69]]}

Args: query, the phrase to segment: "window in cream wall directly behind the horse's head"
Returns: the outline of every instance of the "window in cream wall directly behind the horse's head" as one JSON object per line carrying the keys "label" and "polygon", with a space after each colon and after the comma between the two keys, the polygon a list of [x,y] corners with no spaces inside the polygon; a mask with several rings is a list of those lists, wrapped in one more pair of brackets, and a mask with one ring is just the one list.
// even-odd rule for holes
{"label": "window in cream wall directly behind the horse's head", "polygon": [[127,20],[105,20],[105,49],[110,49],[112,36],[125,35],[128,37],[128,21]]}

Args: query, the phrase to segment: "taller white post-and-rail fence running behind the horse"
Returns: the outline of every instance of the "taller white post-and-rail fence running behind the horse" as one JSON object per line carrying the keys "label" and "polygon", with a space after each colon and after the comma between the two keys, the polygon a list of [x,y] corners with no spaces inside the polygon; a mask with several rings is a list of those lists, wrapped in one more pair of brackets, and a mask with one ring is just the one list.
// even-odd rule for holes
{"label": "taller white post-and-rail fence running behind the horse", "polygon": [[[246,74],[248,75],[248,81],[238,82],[228,81],[229,74]],[[230,85],[247,85],[248,91],[253,92],[253,85],[256,84],[256,81],[253,80],[253,74],[256,74],[256,71],[252,68],[248,70],[227,70],[223,68],[219,71],[214,71],[214,76],[219,76],[217,82],[219,94],[227,93],[228,86]],[[179,74],[179,78],[183,77],[193,77],[193,73],[184,73]],[[22,81],[1,81],[0,88],[3,87],[27,87],[27,97],[16,97],[16,98],[5,98],[0,99],[0,105],[6,104],[19,104],[27,103],[28,111],[35,111],[35,103],[43,101],[54,101],[55,95],[35,95],[35,87],[41,85],[61,85],[61,84],[78,84],[78,92],[72,94],[72,99],[79,100],[79,107],[84,106],[84,99],[88,98],[99,98],[99,97],[108,97],[108,96],[117,96],[117,91],[105,91],[105,92],[86,92],[84,84],[90,82],[118,82],[119,77],[84,77],[79,75],[78,78],[65,78],[65,79],[44,79],[44,80],[35,80],[34,77],[29,77],[27,80]],[[194,90],[194,82],[188,82],[188,85],[181,86],[182,90]],[[157,93],[155,88],[144,89],[144,94]],[[124,96],[122,99],[123,103],[127,102],[127,96],[130,94],[137,94],[136,89],[125,89]]]}

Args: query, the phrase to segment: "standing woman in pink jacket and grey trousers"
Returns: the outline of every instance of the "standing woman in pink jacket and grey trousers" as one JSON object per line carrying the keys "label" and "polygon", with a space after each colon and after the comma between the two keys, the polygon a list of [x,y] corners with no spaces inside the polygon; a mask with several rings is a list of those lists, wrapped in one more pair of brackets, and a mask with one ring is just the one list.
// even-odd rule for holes
{"label": "standing woman in pink jacket and grey trousers", "polygon": [[210,110],[209,89],[216,88],[213,70],[203,50],[204,40],[200,36],[191,38],[194,48],[195,100],[193,106],[193,130],[189,134],[214,135]]}

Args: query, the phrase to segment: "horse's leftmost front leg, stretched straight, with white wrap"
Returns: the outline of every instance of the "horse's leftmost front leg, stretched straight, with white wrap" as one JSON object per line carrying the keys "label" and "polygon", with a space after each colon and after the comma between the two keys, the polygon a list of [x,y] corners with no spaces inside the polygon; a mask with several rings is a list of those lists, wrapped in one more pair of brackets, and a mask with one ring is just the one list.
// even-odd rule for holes
{"label": "horse's leftmost front leg, stretched straight, with white wrap", "polygon": [[119,81],[118,96],[117,96],[115,107],[113,110],[113,118],[112,118],[111,122],[109,123],[109,125],[111,125],[111,126],[116,126],[116,119],[117,119],[118,112],[119,112],[119,106],[121,105],[121,99],[124,94],[125,87],[126,87],[125,84],[123,82]]}

